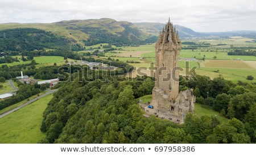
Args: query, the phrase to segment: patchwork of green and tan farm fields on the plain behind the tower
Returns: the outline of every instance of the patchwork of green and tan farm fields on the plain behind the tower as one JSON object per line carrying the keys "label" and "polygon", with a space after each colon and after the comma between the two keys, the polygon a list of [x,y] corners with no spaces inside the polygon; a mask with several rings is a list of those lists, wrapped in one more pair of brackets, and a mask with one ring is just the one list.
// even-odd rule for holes
{"label": "patchwork of green and tan farm fields on the plain behind the tower", "polygon": [[[189,40],[191,41],[191,40]],[[188,68],[186,66],[185,58],[196,58],[198,61],[189,61],[189,69],[196,66],[196,73],[208,76],[210,78],[219,77],[220,74],[230,81],[254,83],[256,80],[248,81],[247,76],[256,78],[256,57],[255,56],[234,56],[228,55],[232,49],[230,47],[255,47],[256,43],[252,43],[252,39],[244,37],[230,37],[229,39],[205,39],[205,40],[192,40],[195,43],[209,43],[209,47],[201,47],[198,49],[181,49],[179,66],[181,68]],[[222,45],[218,45],[222,44]],[[224,45],[225,44],[225,45]],[[187,47],[187,45],[183,45]],[[129,77],[137,77],[137,74],[147,76],[154,75],[151,73],[150,64],[155,61],[155,45],[141,45],[140,47],[122,47],[121,50],[112,53],[106,53],[106,56],[118,58],[119,61],[124,62],[139,62],[129,63],[135,69],[142,68],[142,70],[134,70],[130,73]],[[201,59],[205,57],[205,61]],[[144,69],[147,68],[147,69]],[[180,72],[184,75],[185,69]]]}

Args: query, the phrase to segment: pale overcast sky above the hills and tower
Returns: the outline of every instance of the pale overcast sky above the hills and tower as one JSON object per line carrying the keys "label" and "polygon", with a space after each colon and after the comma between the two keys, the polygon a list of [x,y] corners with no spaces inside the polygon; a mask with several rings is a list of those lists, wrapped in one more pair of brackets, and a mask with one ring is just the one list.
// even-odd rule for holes
{"label": "pale overcast sky above the hills and tower", "polygon": [[255,0],[0,0],[0,23],[112,18],[166,23],[196,32],[256,31]]}

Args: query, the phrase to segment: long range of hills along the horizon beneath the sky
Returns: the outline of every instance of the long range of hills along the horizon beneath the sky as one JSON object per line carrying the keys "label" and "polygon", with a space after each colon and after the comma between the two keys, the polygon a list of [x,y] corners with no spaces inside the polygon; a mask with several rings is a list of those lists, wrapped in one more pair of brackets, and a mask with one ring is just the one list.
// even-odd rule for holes
{"label": "long range of hills along the horizon beneath the sky", "polygon": [[[109,18],[64,20],[55,23],[5,23],[0,24],[0,50],[32,51],[47,48],[69,50],[72,48],[72,51],[76,51],[99,43],[117,46],[155,43],[164,26],[164,23],[118,22]],[[207,36],[256,38],[256,31],[199,33],[187,27],[174,26],[176,31],[179,31],[181,40]]]}

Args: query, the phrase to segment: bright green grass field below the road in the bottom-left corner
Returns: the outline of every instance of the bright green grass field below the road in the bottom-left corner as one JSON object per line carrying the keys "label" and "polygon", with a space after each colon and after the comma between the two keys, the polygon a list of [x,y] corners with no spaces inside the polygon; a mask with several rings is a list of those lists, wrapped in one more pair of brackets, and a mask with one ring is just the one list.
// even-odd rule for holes
{"label": "bright green grass field below the road in the bottom-left corner", "polygon": [[35,144],[45,135],[40,131],[43,111],[53,95],[47,95],[0,119],[0,143]]}

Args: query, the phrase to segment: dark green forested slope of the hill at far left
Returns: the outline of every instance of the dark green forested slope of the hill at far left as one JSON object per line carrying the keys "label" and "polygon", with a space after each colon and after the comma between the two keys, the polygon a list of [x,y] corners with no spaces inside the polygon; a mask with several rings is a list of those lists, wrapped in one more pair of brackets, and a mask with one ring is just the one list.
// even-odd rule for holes
{"label": "dark green forested slope of the hill at far left", "polygon": [[48,49],[60,49],[67,51],[84,50],[79,44],[69,45],[74,40],[53,35],[51,32],[36,28],[15,28],[0,31],[0,52],[5,51],[34,51]]}

